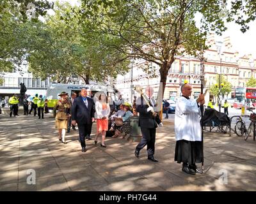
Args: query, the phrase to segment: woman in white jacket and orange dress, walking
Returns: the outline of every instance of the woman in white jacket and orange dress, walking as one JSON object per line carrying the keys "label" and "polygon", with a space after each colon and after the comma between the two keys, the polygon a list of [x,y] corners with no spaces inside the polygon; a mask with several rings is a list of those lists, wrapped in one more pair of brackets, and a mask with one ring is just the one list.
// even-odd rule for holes
{"label": "woman in white jacket and orange dress, walking", "polygon": [[104,140],[106,137],[106,131],[108,131],[108,115],[110,113],[110,107],[108,103],[108,98],[104,92],[99,96],[99,101],[95,103],[95,119],[97,120],[97,133],[95,138],[95,145],[97,144],[98,136],[101,134],[101,144],[100,147],[106,147]]}

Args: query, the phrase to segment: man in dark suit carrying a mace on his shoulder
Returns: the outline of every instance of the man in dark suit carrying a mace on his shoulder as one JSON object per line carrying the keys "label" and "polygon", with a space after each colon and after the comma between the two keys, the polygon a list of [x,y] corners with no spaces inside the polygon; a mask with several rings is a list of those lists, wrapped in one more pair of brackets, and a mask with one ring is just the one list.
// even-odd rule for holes
{"label": "man in dark suit carrying a mace on his shoulder", "polygon": [[148,106],[142,97],[139,97],[136,101],[136,111],[140,113],[139,126],[141,128],[142,138],[135,149],[135,156],[139,157],[140,150],[147,145],[148,159],[157,162],[157,159],[154,158],[157,122],[152,114],[152,110],[154,110],[153,106],[156,105],[154,99],[151,98],[153,93],[154,89],[152,87],[146,88],[145,94],[152,106]]}

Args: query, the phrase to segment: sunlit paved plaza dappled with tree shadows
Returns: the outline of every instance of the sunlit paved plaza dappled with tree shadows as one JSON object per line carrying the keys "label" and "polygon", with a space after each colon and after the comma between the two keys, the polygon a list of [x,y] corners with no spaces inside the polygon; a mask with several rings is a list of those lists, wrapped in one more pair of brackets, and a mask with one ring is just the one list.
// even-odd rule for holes
{"label": "sunlit paved plaza dappled with tree shadows", "polygon": [[[204,134],[205,173],[188,175],[174,161],[173,114],[157,128],[158,163],[146,147],[134,156],[137,142],[107,138],[107,148],[86,140],[81,152],[78,131],[60,143],[51,113],[0,115],[0,191],[256,191],[256,141],[235,134]],[[92,138],[95,138],[93,124]],[[200,166],[200,164],[198,164]],[[35,170],[35,184],[28,184]]]}

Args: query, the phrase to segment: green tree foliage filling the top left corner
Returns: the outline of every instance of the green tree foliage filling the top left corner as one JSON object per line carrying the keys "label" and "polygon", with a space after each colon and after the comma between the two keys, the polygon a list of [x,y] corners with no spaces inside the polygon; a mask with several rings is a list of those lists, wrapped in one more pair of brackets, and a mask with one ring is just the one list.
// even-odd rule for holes
{"label": "green tree foliage filling the top left corner", "polygon": [[53,4],[48,1],[35,0],[2,0],[0,1],[0,72],[11,71],[15,64],[19,66],[26,50],[20,43],[20,26],[28,20],[28,4],[35,5],[35,17],[45,15],[47,9]]}

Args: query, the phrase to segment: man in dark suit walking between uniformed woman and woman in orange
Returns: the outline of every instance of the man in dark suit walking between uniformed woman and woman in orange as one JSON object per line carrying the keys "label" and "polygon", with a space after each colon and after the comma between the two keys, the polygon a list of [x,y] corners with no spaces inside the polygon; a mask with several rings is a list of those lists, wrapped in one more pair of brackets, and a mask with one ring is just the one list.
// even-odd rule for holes
{"label": "man in dark suit walking between uniformed woman and woman in orange", "polygon": [[82,152],[86,152],[85,137],[90,133],[92,122],[94,122],[93,99],[87,97],[87,90],[81,89],[81,96],[74,99],[72,105],[72,124],[79,129],[79,138],[82,146]]}

